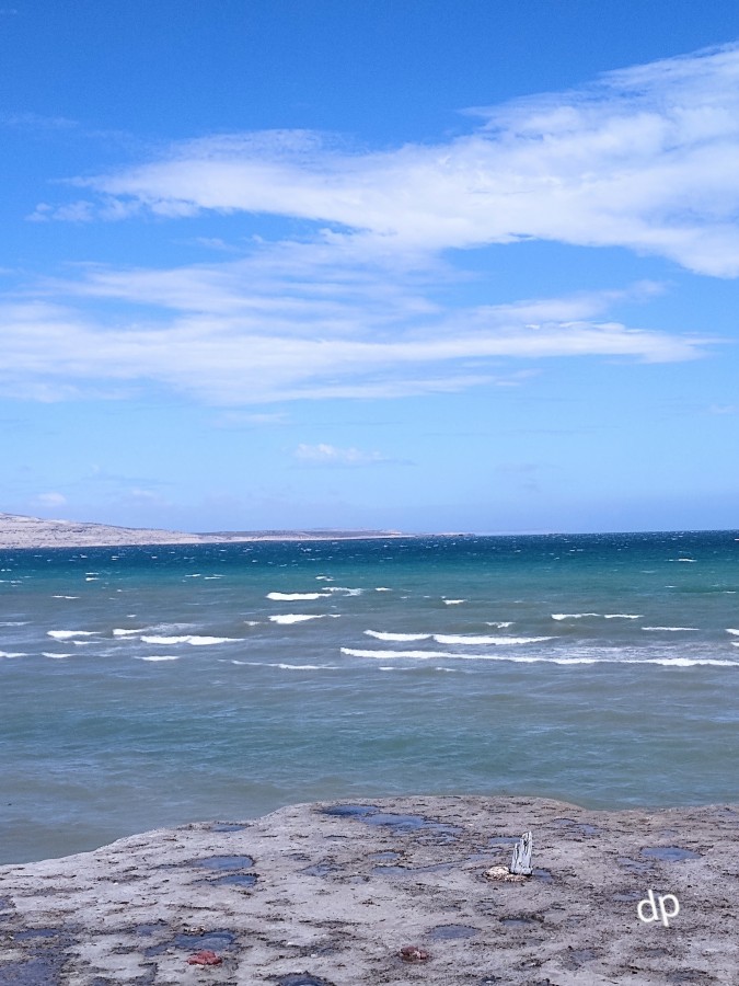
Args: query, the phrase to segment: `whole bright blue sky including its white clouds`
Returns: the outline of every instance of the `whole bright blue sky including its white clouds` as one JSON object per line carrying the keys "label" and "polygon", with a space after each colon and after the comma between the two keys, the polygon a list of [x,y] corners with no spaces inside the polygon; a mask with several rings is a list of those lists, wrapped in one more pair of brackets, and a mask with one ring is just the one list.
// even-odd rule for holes
{"label": "whole bright blue sky including its white clouds", "polygon": [[7,0],[0,161],[0,512],[739,527],[736,0]]}

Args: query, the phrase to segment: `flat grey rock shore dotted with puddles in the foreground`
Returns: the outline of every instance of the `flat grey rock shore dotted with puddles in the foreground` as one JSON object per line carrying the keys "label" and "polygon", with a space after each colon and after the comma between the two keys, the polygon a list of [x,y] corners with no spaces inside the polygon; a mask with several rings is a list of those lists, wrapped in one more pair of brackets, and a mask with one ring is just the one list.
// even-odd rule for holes
{"label": "flat grey rock shore dotted with puddles in the foreground", "polygon": [[[529,829],[533,875],[486,875]],[[0,868],[0,984],[727,986],[738,901],[737,805],[324,802]]]}

